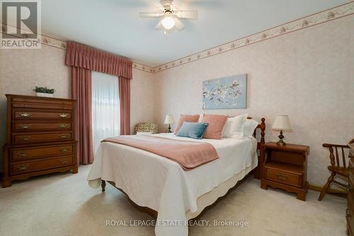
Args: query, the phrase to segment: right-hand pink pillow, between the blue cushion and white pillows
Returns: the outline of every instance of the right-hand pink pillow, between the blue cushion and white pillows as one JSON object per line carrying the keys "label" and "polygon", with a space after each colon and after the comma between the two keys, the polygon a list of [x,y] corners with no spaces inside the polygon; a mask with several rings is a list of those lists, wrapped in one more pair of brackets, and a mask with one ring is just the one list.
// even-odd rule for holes
{"label": "right-hand pink pillow, between the blue cushion and white pillows", "polygon": [[220,114],[204,114],[203,123],[208,123],[203,138],[222,139],[222,129],[224,129],[227,117]]}

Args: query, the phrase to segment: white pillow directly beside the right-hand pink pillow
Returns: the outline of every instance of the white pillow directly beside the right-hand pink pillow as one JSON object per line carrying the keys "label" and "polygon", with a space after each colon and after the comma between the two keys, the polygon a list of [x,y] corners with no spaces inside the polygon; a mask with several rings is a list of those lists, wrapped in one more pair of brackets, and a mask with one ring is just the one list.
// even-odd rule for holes
{"label": "white pillow directly beside the right-hand pink pillow", "polygon": [[244,122],[249,114],[227,118],[222,136],[225,138],[242,138],[244,136]]}

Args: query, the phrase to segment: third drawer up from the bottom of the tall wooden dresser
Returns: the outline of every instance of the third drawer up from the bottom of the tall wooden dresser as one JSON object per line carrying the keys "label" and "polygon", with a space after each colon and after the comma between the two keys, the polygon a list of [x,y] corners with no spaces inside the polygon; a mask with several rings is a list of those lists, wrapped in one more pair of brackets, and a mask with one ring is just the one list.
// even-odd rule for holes
{"label": "third drawer up from the bottom of the tall wooden dresser", "polygon": [[27,134],[13,134],[13,143],[40,143],[52,141],[68,141],[72,140],[72,132],[62,133],[27,133]]}

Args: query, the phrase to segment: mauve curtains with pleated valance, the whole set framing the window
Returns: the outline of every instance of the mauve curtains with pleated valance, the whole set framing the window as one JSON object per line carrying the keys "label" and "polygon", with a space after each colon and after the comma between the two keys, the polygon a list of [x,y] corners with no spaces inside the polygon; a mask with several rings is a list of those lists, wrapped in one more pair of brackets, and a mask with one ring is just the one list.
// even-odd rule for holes
{"label": "mauve curtains with pleated valance, the whole set framing the window", "polygon": [[118,76],[120,134],[130,134],[130,79],[132,61],[76,42],[67,42],[65,64],[71,67],[72,98],[76,99],[76,138],[80,164],[93,162],[91,133],[91,71]]}

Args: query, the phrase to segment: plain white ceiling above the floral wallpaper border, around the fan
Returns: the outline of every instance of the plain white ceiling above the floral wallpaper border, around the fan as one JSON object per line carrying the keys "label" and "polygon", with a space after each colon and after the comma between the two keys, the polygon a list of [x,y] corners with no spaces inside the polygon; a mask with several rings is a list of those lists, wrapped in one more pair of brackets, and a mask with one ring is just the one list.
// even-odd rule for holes
{"label": "plain white ceiling above the floral wallpaper border, around the fan", "polygon": [[42,0],[42,34],[73,40],[147,66],[159,66],[224,42],[302,18],[346,0],[186,0],[198,20],[182,31],[154,30],[158,18],[148,0]]}

